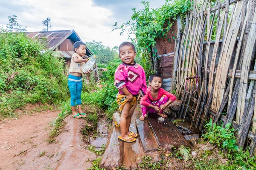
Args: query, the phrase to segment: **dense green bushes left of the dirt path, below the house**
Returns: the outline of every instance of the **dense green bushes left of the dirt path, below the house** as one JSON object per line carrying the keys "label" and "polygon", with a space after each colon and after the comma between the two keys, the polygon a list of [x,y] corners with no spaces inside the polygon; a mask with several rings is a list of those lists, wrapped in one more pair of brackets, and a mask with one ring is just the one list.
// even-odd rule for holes
{"label": "dense green bushes left of the dirt path, below the house", "polygon": [[60,104],[67,98],[64,59],[25,30],[15,15],[7,29],[0,28],[0,117],[16,117],[26,103]]}

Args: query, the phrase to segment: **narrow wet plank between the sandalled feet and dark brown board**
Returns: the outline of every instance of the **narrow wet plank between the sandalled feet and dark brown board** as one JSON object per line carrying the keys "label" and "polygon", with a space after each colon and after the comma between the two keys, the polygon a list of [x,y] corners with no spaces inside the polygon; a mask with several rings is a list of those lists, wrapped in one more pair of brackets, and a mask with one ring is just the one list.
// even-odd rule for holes
{"label": "narrow wet plank between the sandalled feet and dark brown board", "polygon": [[154,136],[154,133],[152,132],[151,128],[148,125],[147,119],[144,121],[140,120],[140,116],[142,113],[135,109],[134,111],[134,117],[137,123],[138,132],[140,135],[141,144],[143,146],[143,150],[145,152],[152,151],[152,150],[158,150],[158,143],[156,141],[156,138]]}

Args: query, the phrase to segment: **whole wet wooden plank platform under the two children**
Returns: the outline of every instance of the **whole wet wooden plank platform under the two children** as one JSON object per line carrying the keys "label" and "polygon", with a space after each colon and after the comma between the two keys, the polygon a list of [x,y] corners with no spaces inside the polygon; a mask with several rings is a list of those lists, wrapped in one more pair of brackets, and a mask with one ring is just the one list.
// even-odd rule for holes
{"label": "whole wet wooden plank platform under the two children", "polygon": [[139,134],[136,142],[133,143],[118,141],[117,137],[121,134],[120,127],[112,123],[110,137],[100,163],[101,168],[125,166],[127,169],[137,169],[143,155],[150,156],[153,161],[161,160],[158,151],[160,145],[190,146],[171,121],[165,119],[164,122],[157,122],[157,114],[151,114],[151,117],[141,121],[141,114],[138,107],[131,119],[130,130]]}

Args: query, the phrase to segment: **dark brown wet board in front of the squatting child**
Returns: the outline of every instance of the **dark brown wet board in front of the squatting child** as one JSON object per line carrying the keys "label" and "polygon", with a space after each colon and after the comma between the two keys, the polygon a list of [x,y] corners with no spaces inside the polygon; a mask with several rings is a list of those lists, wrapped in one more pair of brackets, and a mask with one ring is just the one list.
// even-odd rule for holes
{"label": "dark brown wet board in front of the squatting child", "polygon": [[170,145],[179,147],[180,145],[190,146],[184,136],[180,133],[171,121],[164,119],[158,121],[160,116],[154,113],[148,114],[148,122],[156,136],[159,145]]}

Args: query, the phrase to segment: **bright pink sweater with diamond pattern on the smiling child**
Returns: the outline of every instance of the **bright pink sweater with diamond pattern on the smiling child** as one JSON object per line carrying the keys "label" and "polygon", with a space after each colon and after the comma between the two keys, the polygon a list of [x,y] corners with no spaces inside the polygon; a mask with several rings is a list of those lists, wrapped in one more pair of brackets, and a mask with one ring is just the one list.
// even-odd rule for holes
{"label": "bright pink sweater with diamond pattern on the smiling child", "polygon": [[134,64],[121,63],[116,68],[114,85],[119,89],[121,95],[124,95],[124,93],[120,89],[126,87],[132,95],[136,96],[140,93],[144,96],[147,85],[143,67],[135,61]]}

